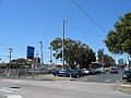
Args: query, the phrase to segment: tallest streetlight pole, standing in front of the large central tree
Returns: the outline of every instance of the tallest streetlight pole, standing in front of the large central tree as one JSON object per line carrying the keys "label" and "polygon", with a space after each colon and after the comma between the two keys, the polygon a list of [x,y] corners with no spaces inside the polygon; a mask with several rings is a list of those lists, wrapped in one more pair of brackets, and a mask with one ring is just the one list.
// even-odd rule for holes
{"label": "tallest streetlight pole, standing in front of the large central tree", "polygon": [[62,69],[64,69],[64,32],[66,32],[66,23],[68,22],[68,20],[63,20],[63,35],[62,35]]}

